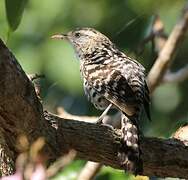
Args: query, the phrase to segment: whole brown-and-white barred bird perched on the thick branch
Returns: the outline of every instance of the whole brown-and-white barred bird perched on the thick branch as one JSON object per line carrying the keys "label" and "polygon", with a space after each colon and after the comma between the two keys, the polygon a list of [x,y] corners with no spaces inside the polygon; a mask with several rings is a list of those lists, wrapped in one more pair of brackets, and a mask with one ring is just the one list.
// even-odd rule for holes
{"label": "whole brown-and-white barred bird perched on the thick branch", "polygon": [[98,123],[111,107],[122,112],[120,161],[127,171],[141,172],[138,120],[142,109],[150,119],[144,67],[92,28],[79,28],[52,38],[66,39],[73,45],[80,59],[85,94],[97,109],[105,109]]}

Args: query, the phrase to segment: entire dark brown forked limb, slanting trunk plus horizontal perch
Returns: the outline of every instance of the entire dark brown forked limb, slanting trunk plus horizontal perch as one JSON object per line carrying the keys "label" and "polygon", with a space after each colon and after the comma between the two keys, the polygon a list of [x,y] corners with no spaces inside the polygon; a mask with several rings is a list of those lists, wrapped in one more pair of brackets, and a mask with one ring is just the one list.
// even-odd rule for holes
{"label": "entire dark brown forked limb, slanting trunk plus horizontal perch", "polygon": [[[108,125],[99,126],[43,113],[32,82],[2,41],[0,85],[0,150],[3,147],[6,152],[0,153],[0,159],[10,162],[5,167],[0,161],[1,175],[14,171],[13,162],[20,153],[16,141],[23,134],[31,143],[38,137],[45,137],[43,153],[49,163],[69,149],[75,149],[80,158],[122,169],[117,159],[120,132]],[[188,147],[183,142],[144,138],[141,150],[143,175],[188,178]]]}

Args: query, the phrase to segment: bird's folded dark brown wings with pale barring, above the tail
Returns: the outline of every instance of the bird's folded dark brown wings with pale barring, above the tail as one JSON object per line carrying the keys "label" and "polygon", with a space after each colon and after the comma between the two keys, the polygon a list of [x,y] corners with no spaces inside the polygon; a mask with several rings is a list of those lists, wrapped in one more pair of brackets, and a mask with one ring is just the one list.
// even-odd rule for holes
{"label": "bird's folded dark brown wings with pale barring, above the tail", "polygon": [[120,71],[115,71],[112,76],[109,81],[103,82],[106,87],[105,98],[129,116],[137,113],[143,104],[146,115],[151,120],[150,96],[146,81],[135,85],[130,82],[131,80],[128,82]]}

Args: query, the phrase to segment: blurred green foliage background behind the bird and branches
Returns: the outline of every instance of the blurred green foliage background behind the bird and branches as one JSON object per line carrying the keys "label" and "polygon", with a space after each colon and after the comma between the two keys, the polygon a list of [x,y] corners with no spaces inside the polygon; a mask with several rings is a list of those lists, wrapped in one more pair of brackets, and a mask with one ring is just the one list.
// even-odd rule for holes
{"label": "blurred green foliage background behind the bird and branches", "polygon": [[[169,34],[181,14],[185,0],[11,0],[8,3],[9,27],[5,2],[0,1],[0,37],[16,55],[27,74],[44,74],[40,80],[45,109],[56,112],[63,106],[76,115],[99,115],[101,112],[87,101],[79,73],[79,61],[68,42],[52,41],[54,33],[67,32],[76,27],[94,27],[116,43],[131,57],[138,59],[150,70],[155,57],[151,45],[138,54],[141,41],[151,30],[158,14]],[[21,16],[15,14],[22,3]],[[16,19],[19,16],[19,19]],[[22,19],[21,19],[22,17]],[[12,19],[11,19],[12,18]],[[19,24],[19,20],[21,23]],[[18,28],[16,29],[17,25]],[[13,32],[13,30],[15,30]],[[188,40],[178,50],[172,70],[188,62]],[[161,85],[152,95],[152,122],[145,116],[141,121],[147,136],[169,137],[183,123],[188,122],[188,80]],[[74,179],[84,161],[75,161],[58,176]],[[58,179],[57,177],[57,179]],[[105,167],[97,179],[133,179],[124,172]]]}

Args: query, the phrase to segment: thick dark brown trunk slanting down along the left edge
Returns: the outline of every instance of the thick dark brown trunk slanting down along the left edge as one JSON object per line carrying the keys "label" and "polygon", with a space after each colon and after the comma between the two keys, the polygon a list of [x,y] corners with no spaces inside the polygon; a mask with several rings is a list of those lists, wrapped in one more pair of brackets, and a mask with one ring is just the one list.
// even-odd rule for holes
{"label": "thick dark brown trunk slanting down along the left edge", "polygon": [[1,40],[0,86],[0,176],[13,173],[20,153],[16,142],[23,134],[30,143],[44,136],[45,152],[54,161],[60,153],[56,130],[46,123],[32,82]]}

